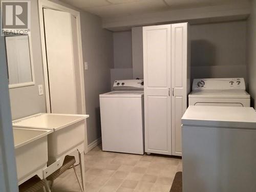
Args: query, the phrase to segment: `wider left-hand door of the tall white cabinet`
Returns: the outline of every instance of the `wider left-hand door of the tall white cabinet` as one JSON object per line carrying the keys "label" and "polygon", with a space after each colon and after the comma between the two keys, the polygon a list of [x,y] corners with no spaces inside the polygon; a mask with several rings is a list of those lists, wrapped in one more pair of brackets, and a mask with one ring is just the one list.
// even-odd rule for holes
{"label": "wider left-hand door of the tall white cabinet", "polygon": [[143,27],[145,152],[172,154],[170,25]]}

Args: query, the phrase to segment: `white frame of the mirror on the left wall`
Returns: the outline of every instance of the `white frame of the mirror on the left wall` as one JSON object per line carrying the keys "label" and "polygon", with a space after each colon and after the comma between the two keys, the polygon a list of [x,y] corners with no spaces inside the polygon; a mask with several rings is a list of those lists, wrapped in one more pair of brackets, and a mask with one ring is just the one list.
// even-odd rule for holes
{"label": "white frame of the mirror on the left wall", "polygon": [[[31,42],[30,32],[28,32],[27,35],[28,35],[28,40],[29,40],[29,54],[30,54],[30,67],[31,67],[32,81],[9,84],[9,89],[19,88],[19,87],[27,87],[27,86],[34,86],[35,85],[34,62],[33,62],[32,42]],[[6,53],[6,60],[7,60],[7,67],[8,67],[7,53]],[[9,78],[9,71],[8,71],[8,78]]]}

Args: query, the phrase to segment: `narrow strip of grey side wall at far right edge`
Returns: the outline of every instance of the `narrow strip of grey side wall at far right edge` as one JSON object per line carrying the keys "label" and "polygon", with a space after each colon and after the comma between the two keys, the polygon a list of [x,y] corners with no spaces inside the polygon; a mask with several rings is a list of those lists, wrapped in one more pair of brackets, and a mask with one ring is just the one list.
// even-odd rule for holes
{"label": "narrow strip of grey side wall at far right edge", "polygon": [[247,22],[247,57],[248,57],[248,76],[249,93],[251,95],[251,104],[256,106],[256,1],[252,1],[251,15]]}

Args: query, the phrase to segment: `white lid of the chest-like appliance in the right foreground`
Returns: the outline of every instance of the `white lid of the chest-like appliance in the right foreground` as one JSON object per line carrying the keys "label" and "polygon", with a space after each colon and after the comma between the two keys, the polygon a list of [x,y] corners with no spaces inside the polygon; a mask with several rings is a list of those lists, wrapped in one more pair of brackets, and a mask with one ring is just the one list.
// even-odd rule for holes
{"label": "white lid of the chest-like appliance in the right foreground", "polygon": [[181,118],[185,126],[226,127],[230,129],[256,129],[253,108],[236,106],[188,106]]}

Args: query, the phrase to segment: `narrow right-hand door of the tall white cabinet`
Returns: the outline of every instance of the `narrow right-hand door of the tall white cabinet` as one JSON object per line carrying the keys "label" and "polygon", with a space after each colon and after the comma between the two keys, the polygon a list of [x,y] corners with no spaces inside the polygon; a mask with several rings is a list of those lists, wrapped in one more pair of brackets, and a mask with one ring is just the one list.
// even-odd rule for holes
{"label": "narrow right-hand door of the tall white cabinet", "polygon": [[187,109],[187,23],[172,24],[172,155],[181,156],[181,117]]}

